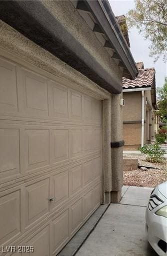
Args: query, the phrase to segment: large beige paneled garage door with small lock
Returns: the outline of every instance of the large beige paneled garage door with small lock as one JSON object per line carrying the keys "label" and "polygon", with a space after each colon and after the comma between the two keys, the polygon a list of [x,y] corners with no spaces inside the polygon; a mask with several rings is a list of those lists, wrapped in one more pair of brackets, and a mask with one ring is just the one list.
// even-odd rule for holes
{"label": "large beige paneled garage door with small lock", "polygon": [[100,204],[100,144],[99,100],[0,57],[1,245],[65,245]]}

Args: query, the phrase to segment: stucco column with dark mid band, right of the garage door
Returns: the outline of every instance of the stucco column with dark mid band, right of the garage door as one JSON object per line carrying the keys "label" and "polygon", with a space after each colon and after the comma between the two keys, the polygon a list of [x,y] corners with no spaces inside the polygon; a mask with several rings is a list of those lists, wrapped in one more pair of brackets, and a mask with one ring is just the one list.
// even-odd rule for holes
{"label": "stucco column with dark mid band, right of the garage door", "polygon": [[[123,185],[123,158],[122,158],[122,94],[111,96],[111,164],[112,164],[112,190],[111,202],[117,203],[121,198]],[[115,143],[114,143],[115,142]]]}

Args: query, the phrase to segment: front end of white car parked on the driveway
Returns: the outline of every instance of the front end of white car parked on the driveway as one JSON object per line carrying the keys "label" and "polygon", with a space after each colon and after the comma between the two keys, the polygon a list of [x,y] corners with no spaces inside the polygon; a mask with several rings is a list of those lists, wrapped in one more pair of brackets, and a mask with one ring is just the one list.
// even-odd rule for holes
{"label": "front end of white car parked on the driveway", "polygon": [[148,242],[159,256],[167,255],[167,181],[152,190],[145,222]]}

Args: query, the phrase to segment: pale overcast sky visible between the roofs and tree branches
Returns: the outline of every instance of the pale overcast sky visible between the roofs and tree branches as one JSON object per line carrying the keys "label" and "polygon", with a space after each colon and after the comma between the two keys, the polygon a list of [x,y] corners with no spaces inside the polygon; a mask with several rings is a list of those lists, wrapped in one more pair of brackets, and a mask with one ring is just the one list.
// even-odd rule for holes
{"label": "pale overcast sky visible between the roofs and tree branches", "polygon": [[[134,8],[133,0],[109,0],[112,12],[115,16],[126,15],[130,9]],[[130,51],[135,62],[142,61],[144,63],[144,68],[155,68],[155,81],[156,87],[162,87],[164,84],[164,77],[167,76],[167,63],[165,64],[160,57],[156,63],[154,59],[149,57],[150,46],[149,40],[144,40],[137,29],[133,28],[128,30],[128,36],[130,41]]]}

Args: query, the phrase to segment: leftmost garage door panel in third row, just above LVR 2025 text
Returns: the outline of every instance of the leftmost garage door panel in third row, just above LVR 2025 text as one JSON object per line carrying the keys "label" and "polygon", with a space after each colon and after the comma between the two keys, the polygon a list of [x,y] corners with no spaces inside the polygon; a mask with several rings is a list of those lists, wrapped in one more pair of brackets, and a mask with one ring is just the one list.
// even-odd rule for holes
{"label": "leftmost garage door panel in third row, just above LVR 2025 text", "polygon": [[0,244],[20,233],[20,190],[0,197]]}

